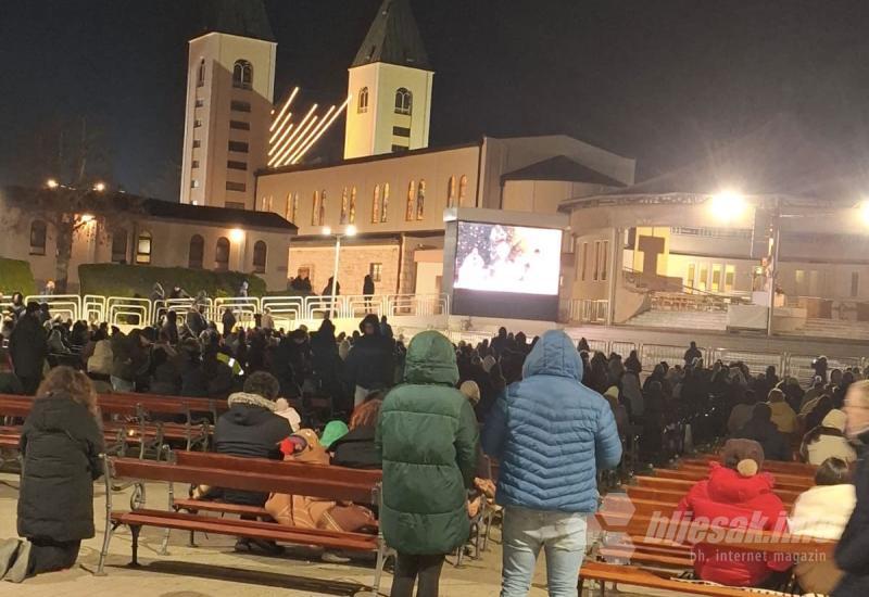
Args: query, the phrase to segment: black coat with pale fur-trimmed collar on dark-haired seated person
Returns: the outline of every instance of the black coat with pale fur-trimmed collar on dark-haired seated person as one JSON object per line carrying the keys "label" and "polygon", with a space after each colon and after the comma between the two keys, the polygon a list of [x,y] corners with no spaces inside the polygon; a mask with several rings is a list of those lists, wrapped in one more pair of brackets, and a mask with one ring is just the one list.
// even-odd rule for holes
{"label": "black coat with pale fur-trimmed collar on dark-haired seated person", "polygon": [[[290,423],[274,412],[274,403],[255,394],[239,392],[229,396],[229,410],[221,415],[214,428],[214,449],[242,458],[280,459],[278,444],[290,436]],[[225,490],[223,498],[231,504],[262,506],[267,494]]]}

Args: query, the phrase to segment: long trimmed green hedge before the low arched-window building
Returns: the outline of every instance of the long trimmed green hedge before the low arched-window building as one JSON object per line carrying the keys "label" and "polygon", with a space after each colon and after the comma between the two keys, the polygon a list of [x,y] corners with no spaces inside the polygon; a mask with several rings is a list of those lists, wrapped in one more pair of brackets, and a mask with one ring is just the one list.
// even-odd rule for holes
{"label": "long trimmed green hedge before the low arched-window building", "polygon": [[200,290],[212,297],[236,296],[243,280],[248,281],[248,293],[251,296],[262,296],[266,291],[265,280],[252,274],[185,267],[85,264],[78,266],[78,279],[83,295],[149,297],[154,283],[160,282],[166,293],[177,284],[191,296]]}

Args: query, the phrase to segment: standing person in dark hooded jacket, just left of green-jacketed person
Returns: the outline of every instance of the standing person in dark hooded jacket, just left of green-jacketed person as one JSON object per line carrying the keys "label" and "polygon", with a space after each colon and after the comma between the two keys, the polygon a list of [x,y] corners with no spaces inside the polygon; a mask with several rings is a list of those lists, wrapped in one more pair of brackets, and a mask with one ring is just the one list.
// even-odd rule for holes
{"label": "standing person in dark hooded jacket, just left of green-jacketed person", "polygon": [[394,378],[395,343],[380,332],[380,321],[368,314],[360,323],[363,335],[350,350],[344,374],[355,385],[353,406],[361,405],[374,390],[390,388]]}

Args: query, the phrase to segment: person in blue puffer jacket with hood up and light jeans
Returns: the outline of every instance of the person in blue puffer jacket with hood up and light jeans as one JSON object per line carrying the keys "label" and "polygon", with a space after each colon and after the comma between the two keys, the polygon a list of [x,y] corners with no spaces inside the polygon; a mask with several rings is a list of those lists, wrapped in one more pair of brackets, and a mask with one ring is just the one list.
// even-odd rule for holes
{"label": "person in blue puffer jacket with hood up and light jeans", "polygon": [[581,379],[571,340],[547,331],[528,355],[522,381],[489,412],[483,449],[501,461],[495,497],[504,506],[501,597],[528,595],[541,548],[550,595],[577,595],[596,473],[621,460],[613,411]]}

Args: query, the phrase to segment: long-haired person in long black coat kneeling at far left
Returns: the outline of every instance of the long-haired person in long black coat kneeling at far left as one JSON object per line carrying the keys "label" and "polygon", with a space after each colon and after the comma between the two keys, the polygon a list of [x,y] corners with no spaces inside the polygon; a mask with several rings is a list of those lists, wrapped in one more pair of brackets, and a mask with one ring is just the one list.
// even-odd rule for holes
{"label": "long-haired person in long black coat kneeling at far left", "polygon": [[[26,577],[72,567],[93,529],[93,481],[104,450],[90,380],[55,367],[37,391],[22,429],[17,530],[26,541],[0,542],[0,577]],[[10,557],[11,556],[11,557]]]}

